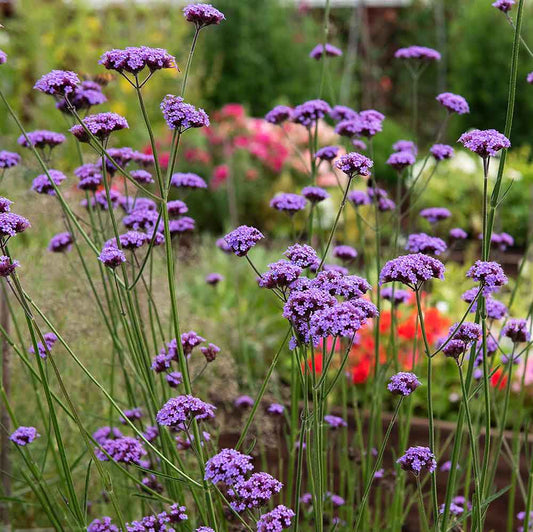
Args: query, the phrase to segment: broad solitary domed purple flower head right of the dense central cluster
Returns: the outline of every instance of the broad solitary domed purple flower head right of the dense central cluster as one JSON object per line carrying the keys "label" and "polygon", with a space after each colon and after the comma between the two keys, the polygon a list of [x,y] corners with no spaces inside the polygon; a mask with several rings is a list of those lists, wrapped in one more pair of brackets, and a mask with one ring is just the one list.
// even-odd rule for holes
{"label": "broad solitary domed purple flower head right of the dense central cluster", "polygon": [[392,259],[383,266],[379,275],[380,284],[398,282],[413,290],[430,279],[444,279],[444,264],[423,253]]}

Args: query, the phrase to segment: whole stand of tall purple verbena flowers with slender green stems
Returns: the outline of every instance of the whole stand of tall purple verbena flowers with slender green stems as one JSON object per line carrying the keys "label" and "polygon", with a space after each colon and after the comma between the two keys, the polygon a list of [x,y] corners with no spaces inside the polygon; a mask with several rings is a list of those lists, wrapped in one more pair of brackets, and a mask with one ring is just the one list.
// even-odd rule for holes
{"label": "whole stand of tall purple verbena flowers with slender green stems", "polygon": [[[185,18],[195,31],[181,91],[179,95],[167,95],[160,105],[172,132],[166,170],[160,164],[144,99],[148,81],[157,71],[176,68],[174,57],[166,50],[142,46],[110,50],[100,60],[105,68],[124,77],[137,94],[152,155],[129,147],[110,147],[111,139],[118,138],[129,123],[116,113],[90,114],[93,106],[106,101],[98,84],[81,82],[74,72],[59,70],[37,81],[35,88],[54,97],[59,111],[71,121],[69,131],[79,155],[74,174],[79,180],[78,189],[85,195],[82,214],[68,204],[63,193],[62,183],[67,176],[51,168],[54,148],[66,142],[66,136],[43,130],[27,132],[0,91],[20,129],[19,144],[31,151],[40,168],[32,190],[52,196],[61,209],[65,231],[54,236],[48,248],[55,253],[75,251],[108,333],[111,356],[122,369],[121,375],[112,371],[109,383],[97,380],[24,288],[17,271],[20,264],[10,252],[10,240],[30,230],[30,222],[12,211],[9,199],[0,198],[0,276],[16,334],[10,335],[4,325],[1,332],[35,385],[40,413],[34,421],[37,427],[20,425],[5,379],[2,400],[16,427],[9,439],[25,466],[20,475],[46,515],[48,525],[56,530],[92,532],[396,531],[412,522],[410,514],[417,504],[415,513],[422,530],[461,530],[468,524],[471,530],[482,531],[486,529],[491,503],[510,489],[508,529],[513,527],[517,494],[522,497],[523,506],[518,519],[524,530],[531,529],[533,466],[525,482],[520,463],[530,447],[522,439],[522,420],[513,423],[511,441],[504,432],[513,367],[523,359],[525,367],[529,356],[531,310],[527,319],[509,317],[518,283],[515,281],[507,306],[496,299],[494,295],[505,290],[508,279],[501,265],[490,260],[491,243],[500,248],[512,245],[512,237],[506,233],[495,235],[493,225],[496,209],[505,196],[501,186],[505,154],[510,148],[523,0],[519,2],[516,21],[508,14],[513,2],[496,4],[515,29],[507,120],[504,133],[472,130],[459,139],[482,162],[481,256],[465,271],[473,283],[462,297],[466,310],[454,309],[457,322],[436,343],[429,335],[425,302],[431,297],[431,284],[445,282],[445,265],[434,256],[447,258],[448,244],[437,234],[443,236],[438,228],[453,218],[453,213],[443,207],[422,210],[420,216],[430,224],[431,234],[405,235],[407,225],[402,219],[410,217],[439,163],[453,157],[452,146],[440,141],[453,114],[469,112],[467,101],[450,92],[437,96],[445,109],[445,119],[438,128],[436,142],[419,164],[414,141],[399,140],[394,144],[387,163],[397,172],[395,200],[380,187],[380,176],[373,171],[373,137],[382,130],[384,115],[376,110],[356,112],[341,105],[332,108],[321,98],[328,72],[326,61],[341,55],[338,48],[323,42],[311,52],[311,57],[323,65],[317,99],[294,108],[277,106],[267,114],[266,120],[272,124],[283,127],[291,121],[307,132],[309,182],[300,194],[280,193],[270,201],[273,209],[290,220],[292,241],[283,252],[284,258],[280,255],[266,271],[261,272],[252,259],[253,248],[265,239],[258,228],[241,225],[217,242],[223,251],[250,265],[252,275],[257,275],[258,289],[271,292],[287,325],[264,379],[253,383],[258,388],[255,398],[241,396],[235,401],[237,408],[249,410],[237,441],[227,448],[220,448],[205,430],[217,416],[216,407],[195,395],[201,389],[200,376],[206,367],[216,367],[214,362],[221,350],[195,331],[182,332],[175,248],[185,233],[195,229],[195,222],[186,216],[188,207],[182,199],[170,199],[174,189],[183,193],[207,188],[196,174],[175,173],[174,169],[182,135],[191,128],[209,125],[206,112],[187,103],[184,96],[201,30],[222,22],[224,15],[207,4],[184,9]],[[327,16],[328,10],[326,22]],[[398,50],[396,57],[405,62],[413,78],[412,134],[416,139],[418,80],[429,63],[440,59],[440,54],[430,48],[411,46]],[[7,56],[0,53],[0,64],[6,61]],[[88,114],[82,117],[80,111]],[[335,131],[345,139],[341,139],[341,144],[347,150],[318,145],[319,128],[325,120],[336,123]],[[84,153],[82,145],[90,148],[92,157]],[[351,151],[354,148],[358,151]],[[500,157],[499,169],[489,197],[489,165],[496,156]],[[20,162],[18,154],[0,152],[2,177]],[[417,186],[428,164],[432,164],[429,178]],[[340,189],[341,199],[332,224],[324,220],[321,205],[337,192],[318,186],[321,165],[331,166]],[[124,193],[117,185],[121,178]],[[366,190],[358,186],[360,182],[366,183]],[[132,193],[128,193],[128,187]],[[342,236],[339,231],[346,225],[343,216],[347,205],[356,215],[357,248],[347,243],[346,232]],[[388,226],[393,228],[392,237],[385,239],[383,228]],[[369,233],[373,252],[366,245]],[[467,236],[463,229],[455,227],[450,230],[448,241],[453,243]],[[401,251],[403,241],[406,254]],[[164,250],[169,323],[165,323],[153,290],[158,248]],[[327,263],[330,255],[342,265]],[[524,264],[525,261],[520,273]],[[356,265],[363,269],[364,277],[350,272]],[[217,273],[207,278],[215,286],[221,280]],[[405,360],[399,356],[397,342],[398,308],[412,297],[416,303],[416,333]],[[391,308],[390,323],[385,324],[390,337],[385,346],[380,322],[380,316],[386,315],[384,301],[390,302]],[[13,311],[16,305],[22,309],[24,324],[17,321]],[[468,319],[469,314],[474,315],[473,321]],[[23,326],[31,338],[27,349],[23,347]],[[360,342],[359,335],[368,331],[373,335],[372,377],[361,393],[348,386],[345,372],[350,354]],[[80,415],[69,382],[56,365],[56,345],[64,347],[109,403],[109,425],[90,427]],[[497,352],[504,355],[501,362]],[[192,360],[198,353],[205,357],[205,364],[192,375]],[[275,460],[253,449],[250,430],[269,381],[284,356],[290,359],[290,404],[280,401],[266,409],[268,415],[283,420],[283,438],[275,445],[280,450],[284,439],[286,452],[281,454],[281,466],[276,466]],[[433,400],[439,386],[433,375],[436,357],[451,359],[445,363],[457,368],[462,392],[457,427],[448,442],[437,437],[434,420]],[[239,360],[237,355],[235,358]],[[495,376],[499,380],[492,386]],[[119,379],[120,387],[116,385]],[[523,389],[522,376],[522,406]],[[423,441],[413,441],[412,396],[424,393],[427,432]],[[334,399],[340,399],[340,409],[333,409]],[[382,407],[391,401],[393,414],[383,431]],[[367,415],[361,408],[367,409]],[[124,428],[113,426],[115,420]],[[397,424],[398,420],[401,422]],[[81,456],[79,449],[65,444],[62,427],[66,422],[73,423],[80,433],[84,445]],[[468,441],[463,436],[465,426]],[[393,430],[399,442],[395,449],[391,448]],[[479,438],[482,433],[483,441]],[[34,452],[33,442],[38,438],[48,440],[44,457]],[[48,455],[52,455],[52,465],[47,463]],[[446,455],[450,459],[444,461]],[[511,464],[512,478],[509,488],[500,489],[496,488],[495,475],[503,457]],[[80,476],[76,468],[82,461],[86,472]],[[258,471],[260,464],[270,471]],[[110,516],[89,516],[89,492],[99,489],[94,486],[93,468],[109,503],[106,513]],[[445,476],[445,490],[440,493],[438,475]],[[119,496],[120,491],[127,491],[128,496],[138,495],[139,503],[132,507]],[[7,494],[5,500],[9,500]]]}

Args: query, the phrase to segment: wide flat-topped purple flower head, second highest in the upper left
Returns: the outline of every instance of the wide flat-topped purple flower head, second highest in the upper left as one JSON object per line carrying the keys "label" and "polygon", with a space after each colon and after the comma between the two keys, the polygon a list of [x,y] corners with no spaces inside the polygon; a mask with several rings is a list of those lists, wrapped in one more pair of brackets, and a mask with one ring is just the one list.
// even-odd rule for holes
{"label": "wide flat-topped purple flower head, second highest in the upper left", "polygon": [[129,46],[124,50],[104,52],[99,63],[108,70],[137,75],[144,68],[155,72],[162,68],[176,68],[176,59],[163,48]]}

